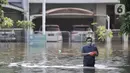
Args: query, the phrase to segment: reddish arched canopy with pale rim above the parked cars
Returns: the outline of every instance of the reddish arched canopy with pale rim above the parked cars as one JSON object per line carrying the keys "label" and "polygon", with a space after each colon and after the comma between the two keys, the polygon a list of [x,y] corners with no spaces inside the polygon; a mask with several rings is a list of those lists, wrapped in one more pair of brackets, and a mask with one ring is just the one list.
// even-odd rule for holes
{"label": "reddish arched canopy with pale rim above the parked cars", "polygon": [[54,8],[47,10],[47,15],[88,15],[93,16],[94,13],[87,9],[82,8]]}

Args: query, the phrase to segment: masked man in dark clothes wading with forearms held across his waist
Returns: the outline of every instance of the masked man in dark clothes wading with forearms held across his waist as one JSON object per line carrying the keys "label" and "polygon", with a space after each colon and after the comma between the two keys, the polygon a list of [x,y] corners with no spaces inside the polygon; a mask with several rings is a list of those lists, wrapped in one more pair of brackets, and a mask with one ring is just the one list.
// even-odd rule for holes
{"label": "masked man in dark clothes wading with forearms held across his waist", "polygon": [[87,67],[94,67],[95,56],[98,56],[98,49],[95,44],[92,44],[91,37],[86,39],[87,45],[82,48],[82,55],[84,56],[83,65]]}

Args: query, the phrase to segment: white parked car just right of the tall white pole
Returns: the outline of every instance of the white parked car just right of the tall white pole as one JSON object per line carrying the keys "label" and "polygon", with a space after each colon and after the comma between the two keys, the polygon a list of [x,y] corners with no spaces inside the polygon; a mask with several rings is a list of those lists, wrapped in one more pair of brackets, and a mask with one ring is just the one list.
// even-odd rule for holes
{"label": "white parked car just right of the tall white pole", "polygon": [[59,25],[46,25],[47,41],[62,41]]}

